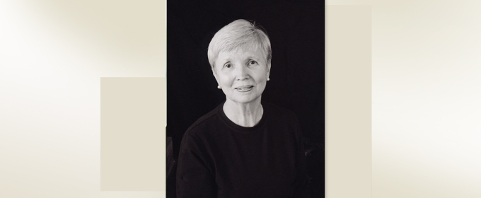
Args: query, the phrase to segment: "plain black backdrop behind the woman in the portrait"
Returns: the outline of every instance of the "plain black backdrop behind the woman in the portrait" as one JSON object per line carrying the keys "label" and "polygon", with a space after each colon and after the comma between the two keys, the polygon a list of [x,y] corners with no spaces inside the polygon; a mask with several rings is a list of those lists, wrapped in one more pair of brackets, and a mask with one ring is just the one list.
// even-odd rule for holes
{"label": "plain black backdrop behind the woman in the portrait", "polygon": [[296,112],[304,138],[324,144],[324,1],[168,0],[166,132],[174,158],[185,130],[226,100],[207,47],[236,19],[255,21],[270,37],[272,67],[262,100]]}

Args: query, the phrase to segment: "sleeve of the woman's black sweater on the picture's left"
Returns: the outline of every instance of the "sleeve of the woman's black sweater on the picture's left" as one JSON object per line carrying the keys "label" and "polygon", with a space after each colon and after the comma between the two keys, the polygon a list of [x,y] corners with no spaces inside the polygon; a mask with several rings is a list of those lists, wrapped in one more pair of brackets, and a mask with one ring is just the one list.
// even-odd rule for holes
{"label": "sleeve of the woman's black sweater on the picture's left", "polygon": [[177,167],[177,197],[216,197],[214,174],[202,145],[187,132],[182,137]]}

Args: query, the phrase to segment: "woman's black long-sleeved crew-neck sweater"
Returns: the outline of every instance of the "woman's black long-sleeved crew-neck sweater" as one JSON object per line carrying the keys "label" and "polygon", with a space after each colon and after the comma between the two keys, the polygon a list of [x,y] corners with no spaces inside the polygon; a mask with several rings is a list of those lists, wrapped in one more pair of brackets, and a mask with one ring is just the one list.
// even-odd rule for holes
{"label": "woman's black long-sleeved crew-neck sweater", "polygon": [[177,197],[297,197],[306,171],[296,115],[262,103],[260,122],[241,127],[226,117],[223,106],[185,132]]}

